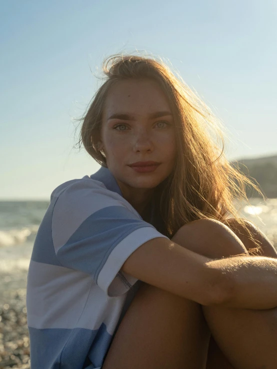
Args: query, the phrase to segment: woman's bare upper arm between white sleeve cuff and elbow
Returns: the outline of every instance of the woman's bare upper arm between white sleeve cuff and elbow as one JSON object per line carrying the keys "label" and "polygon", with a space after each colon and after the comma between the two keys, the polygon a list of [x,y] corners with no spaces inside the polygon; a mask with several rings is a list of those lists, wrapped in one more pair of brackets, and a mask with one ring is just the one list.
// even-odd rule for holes
{"label": "woman's bare upper arm between white sleeve cuff and elbow", "polygon": [[226,278],[219,269],[208,268],[208,261],[211,259],[170,239],[157,237],[138,247],[121,270],[165,291],[209,305],[225,300],[229,294]]}

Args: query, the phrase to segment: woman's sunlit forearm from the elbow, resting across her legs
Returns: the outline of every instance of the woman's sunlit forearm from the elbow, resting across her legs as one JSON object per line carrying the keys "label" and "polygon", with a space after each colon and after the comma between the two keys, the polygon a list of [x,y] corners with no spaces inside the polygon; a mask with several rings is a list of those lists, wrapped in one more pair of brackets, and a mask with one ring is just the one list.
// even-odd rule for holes
{"label": "woman's sunlit forearm from the elbow, resting across her legs", "polygon": [[277,306],[277,259],[265,256],[232,256],[206,264],[220,269],[231,285],[230,296],[220,305],[270,309]]}

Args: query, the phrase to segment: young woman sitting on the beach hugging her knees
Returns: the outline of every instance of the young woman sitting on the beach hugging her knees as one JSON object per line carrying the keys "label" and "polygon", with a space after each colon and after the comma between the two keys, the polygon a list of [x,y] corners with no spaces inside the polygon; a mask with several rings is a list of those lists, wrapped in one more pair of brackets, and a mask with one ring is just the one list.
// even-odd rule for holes
{"label": "young woman sitting on the beach hugging her knees", "polygon": [[33,247],[32,369],[277,367],[277,253],[215,118],[154,59],[104,71],[80,137],[101,168],[52,192]]}

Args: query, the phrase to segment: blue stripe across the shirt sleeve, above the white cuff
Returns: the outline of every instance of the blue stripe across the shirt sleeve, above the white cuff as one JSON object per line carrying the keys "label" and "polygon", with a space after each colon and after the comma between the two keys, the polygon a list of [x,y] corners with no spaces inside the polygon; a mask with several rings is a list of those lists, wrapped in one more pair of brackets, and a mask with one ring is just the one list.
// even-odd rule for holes
{"label": "blue stripe across the shirt sleeve, above the white cuff", "polygon": [[68,241],[58,249],[62,266],[91,274],[96,282],[101,267],[112,249],[128,234],[149,226],[135,219],[124,206],[107,206],[88,216]]}

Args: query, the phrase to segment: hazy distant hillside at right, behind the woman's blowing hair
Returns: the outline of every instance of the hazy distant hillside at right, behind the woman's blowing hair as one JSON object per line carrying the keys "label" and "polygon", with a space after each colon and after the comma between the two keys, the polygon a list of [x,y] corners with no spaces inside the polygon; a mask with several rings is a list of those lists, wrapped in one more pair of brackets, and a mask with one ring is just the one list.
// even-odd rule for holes
{"label": "hazy distant hillside at right, behind the woman's blowing hair", "polygon": [[[231,164],[236,164],[236,161]],[[256,179],[265,196],[277,197],[277,155],[238,159],[237,165],[244,174]],[[248,197],[258,196],[258,193],[250,188],[247,188],[246,193]]]}

